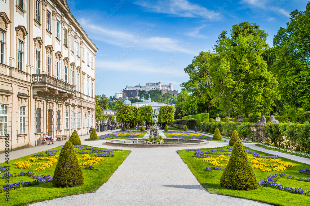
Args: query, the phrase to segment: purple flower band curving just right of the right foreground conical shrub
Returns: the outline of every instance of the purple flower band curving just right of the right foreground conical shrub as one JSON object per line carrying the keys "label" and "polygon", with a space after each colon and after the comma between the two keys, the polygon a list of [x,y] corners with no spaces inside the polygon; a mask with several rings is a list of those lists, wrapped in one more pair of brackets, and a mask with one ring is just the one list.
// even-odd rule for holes
{"label": "purple flower band curving just right of the right foreground conical shrub", "polygon": [[301,195],[306,195],[306,196],[310,195],[309,191],[305,191],[302,188],[296,189],[295,187],[287,187],[287,186],[283,186],[283,185],[276,183],[277,180],[281,177],[286,178],[286,179],[294,179],[294,180],[299,180],[299,181],[305,181],[305,182],[309,181],[309,178],[301,177],[299,179],[296,179],[296,177],[294,177],[294,176],[291,177],[291,176],[286,176],[286,174],[276,173],[276,174],[270,174],[266,179],[264,179],[261,182],[258,182],[258,185],[260,185],[262,187],[271,187],[271,188],[275,188],[275,189],[279,189],[279,190],[283,190],[283,191],[288,191],[288,192],[295,193],[295,194],[301,194]]}

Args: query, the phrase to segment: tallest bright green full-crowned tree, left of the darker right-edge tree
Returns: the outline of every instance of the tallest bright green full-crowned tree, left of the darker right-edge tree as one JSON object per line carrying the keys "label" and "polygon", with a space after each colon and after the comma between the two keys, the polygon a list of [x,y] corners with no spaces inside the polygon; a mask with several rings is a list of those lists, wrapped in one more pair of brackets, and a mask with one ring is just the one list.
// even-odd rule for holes
{"label": "tallest bright green full-crowned tree, left of the darker right-edge tree", "polygon": [[219,109],[230,116],[238,110],[269,114],[276,96],[277,80],[268,72],[261,56],[267,33],[255,23],[243,22],[232,26],[231,35],[223,31],[214,45],[210,76],[214,87],[211,96]]}

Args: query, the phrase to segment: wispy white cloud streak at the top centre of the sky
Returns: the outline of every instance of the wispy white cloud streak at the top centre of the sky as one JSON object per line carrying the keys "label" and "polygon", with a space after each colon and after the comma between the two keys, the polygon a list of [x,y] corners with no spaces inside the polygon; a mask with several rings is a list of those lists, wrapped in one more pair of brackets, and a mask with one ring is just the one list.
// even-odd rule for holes
{"label": "wispy white cloud streak at the top centre of the sky", "polygon": [[178,17],[203,18],[206,20],[220,19],[221,15],[199,4],[187,0],[158,0],[149,2],[145,0],[135,1],[134,4],[142,6],[144,11],[169,14]]}

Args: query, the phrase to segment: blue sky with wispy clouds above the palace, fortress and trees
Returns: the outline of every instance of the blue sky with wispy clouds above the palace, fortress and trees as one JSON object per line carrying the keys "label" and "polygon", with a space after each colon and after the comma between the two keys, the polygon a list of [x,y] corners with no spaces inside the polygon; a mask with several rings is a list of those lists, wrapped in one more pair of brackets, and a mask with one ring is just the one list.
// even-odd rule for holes
{"label": "blue sky with wispy clouds above the palace, fortress and trees", "polygon": [[200,51],[212,51],[232,25],[257,23],[273,36],[304,11],[307,0],[68,0],[71,13],[99,48],[96,95],[108,97],[126,85],[188,81],[184,68]]}

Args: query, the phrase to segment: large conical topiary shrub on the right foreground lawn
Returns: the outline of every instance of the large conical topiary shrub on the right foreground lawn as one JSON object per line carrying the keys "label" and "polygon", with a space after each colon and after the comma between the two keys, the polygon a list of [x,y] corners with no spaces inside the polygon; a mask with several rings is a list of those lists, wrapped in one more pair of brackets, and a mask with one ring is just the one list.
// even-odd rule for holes
{"label": "large conical topiary shrub on the right foreground lawn", "polygon": [[255,190],[257,188],[256,176],[240,139],[236,141],[221,176],[221,186],[233,190]]}

